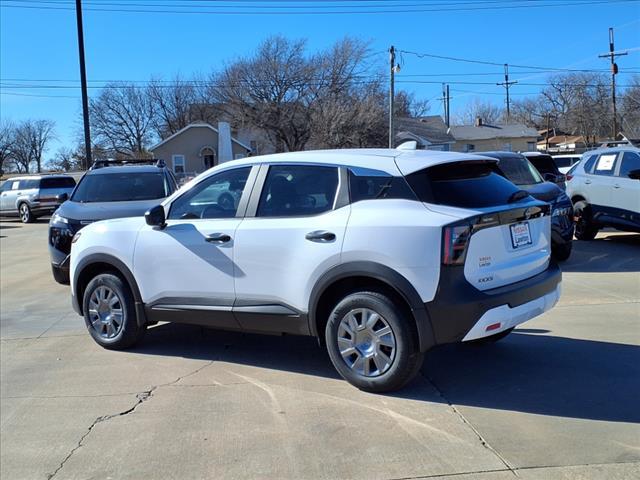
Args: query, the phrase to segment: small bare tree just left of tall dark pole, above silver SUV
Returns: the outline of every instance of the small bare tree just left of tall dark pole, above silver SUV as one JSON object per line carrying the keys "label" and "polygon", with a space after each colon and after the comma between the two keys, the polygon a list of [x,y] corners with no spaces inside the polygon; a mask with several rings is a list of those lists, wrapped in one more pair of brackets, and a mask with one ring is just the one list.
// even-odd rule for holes
{"label": "small bare tree just left of tall dark pole, above silver SUV", "polygon": [[25,120],[18,124],[11,157],[19,172],[29,173],[32,163],[37,172],[42,171],[42,157],[54,138],[54,126],[51,120]]}

